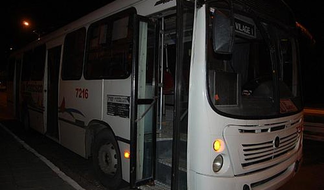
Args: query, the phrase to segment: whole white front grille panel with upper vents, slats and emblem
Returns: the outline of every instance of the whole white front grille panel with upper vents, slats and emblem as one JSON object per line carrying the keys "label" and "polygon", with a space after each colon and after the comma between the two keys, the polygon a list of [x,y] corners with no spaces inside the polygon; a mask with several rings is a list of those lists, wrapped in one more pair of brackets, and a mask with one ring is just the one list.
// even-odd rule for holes
{"label": "whole white front grille panel with upper vents, slats and emblem", "polygon": [[288,120],[226,125],[223,137],[235,175],[272,167],[293,155],[299,147],[302,122],[300,114]]}

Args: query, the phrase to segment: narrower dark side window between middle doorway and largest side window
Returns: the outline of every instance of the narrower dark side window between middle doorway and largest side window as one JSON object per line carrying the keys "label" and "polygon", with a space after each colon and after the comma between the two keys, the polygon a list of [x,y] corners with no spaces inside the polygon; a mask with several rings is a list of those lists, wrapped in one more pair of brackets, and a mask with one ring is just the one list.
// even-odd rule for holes
{"label": "narrower dark side window between middle doorway and largest side window", "polygon": [[82,76],[86,28],[68,33],[64,41],[62,79],[79,80]]}

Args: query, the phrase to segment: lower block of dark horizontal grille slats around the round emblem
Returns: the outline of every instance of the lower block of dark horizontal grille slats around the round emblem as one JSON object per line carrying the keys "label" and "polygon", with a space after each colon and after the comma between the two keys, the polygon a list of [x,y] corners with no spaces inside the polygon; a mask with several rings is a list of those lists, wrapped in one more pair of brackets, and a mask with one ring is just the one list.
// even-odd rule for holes
{"label": "lower block of dark horizontal grille slats around the round emblem", "polygon": [[244,163],[242,167],[266,162],[288,153],[296,147],[299,134],[292,133],[280,138],[280,145],[275,148],[274,141],[265,141],[261,143],[242,144]]}

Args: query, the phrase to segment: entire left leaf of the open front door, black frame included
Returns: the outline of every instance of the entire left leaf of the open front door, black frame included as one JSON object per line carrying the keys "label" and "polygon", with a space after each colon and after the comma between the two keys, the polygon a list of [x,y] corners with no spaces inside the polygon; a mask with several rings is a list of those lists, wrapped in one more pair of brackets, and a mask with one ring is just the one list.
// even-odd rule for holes
{"label": "entire left leaf of the open front door, black frame included", "polygon": [[156,23],[136,16],[131,113],[131,187],[154,179],[156,143]]}

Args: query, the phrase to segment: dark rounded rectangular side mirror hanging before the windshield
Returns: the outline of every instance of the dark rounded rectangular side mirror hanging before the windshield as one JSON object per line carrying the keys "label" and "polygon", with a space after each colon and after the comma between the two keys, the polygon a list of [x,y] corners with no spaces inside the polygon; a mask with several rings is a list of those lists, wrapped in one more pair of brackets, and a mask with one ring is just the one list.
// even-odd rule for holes
{"label": "dark rounded rectangular side mirror hanging before the windshield", "polygon": [[214,52],[231,54],[233,45],[233,26],[229,10],[214,10],[213,46]]}

